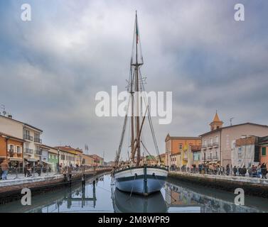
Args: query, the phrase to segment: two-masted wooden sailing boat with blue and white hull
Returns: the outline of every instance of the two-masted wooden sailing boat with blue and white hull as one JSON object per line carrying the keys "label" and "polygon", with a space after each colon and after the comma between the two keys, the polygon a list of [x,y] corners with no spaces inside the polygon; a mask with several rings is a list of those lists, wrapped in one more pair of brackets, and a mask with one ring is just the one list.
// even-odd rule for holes
{"label": "two-masted wooden sailing boat with blue and white hull", "polygon": [[[127,114],[124,118],[124,126],[119,143],[119,149],[117,151],[115,159],[113,176],[117,189],[124,192],[143,194],[144,196],[147,196],[151,193],[159,192],[161,190],[168,175],[168,168],[161,165],[161,157],[159,155],[159,150],[154,135],[154,128],[151,121],[149,105],[148,103],[146,103],[146,99],[144,99],[144,102],[146,103],[146,111],[143,116],[141,105],[143,99],[139,99],[139,96],[136,96],[137,93],[144,91],[144,79],[141,77],[140,72],[140,67],[143,64],[144,61],[141,54],[138,19],[136,15],[128,87],[129,105],[127,108]],[[130,116],[129,106],[131,111]],[[134,111],[136,111],[135,114]],[[142,120],[140,119],[140,115],[142,116]],[[122,143],[124,140],[124,133],[126,131],[127,121],[129,118],[131,120],[131,144],[129,146],[131,148],[130,163],[129,165],[119,166],[119,157],[122,150]],[[141,145],[144,146],[143,140],[141,140],[141,131],[146,118],[149,121],[149,126],[151,128],[151,134],[153,136],[156,153],[159,157],[158,160],[160,161],[160,163],[158,163],[157,165],[147,165],[146,161],[144,160],[141,162]],[[145,150],[149,153],[146,148]]]}

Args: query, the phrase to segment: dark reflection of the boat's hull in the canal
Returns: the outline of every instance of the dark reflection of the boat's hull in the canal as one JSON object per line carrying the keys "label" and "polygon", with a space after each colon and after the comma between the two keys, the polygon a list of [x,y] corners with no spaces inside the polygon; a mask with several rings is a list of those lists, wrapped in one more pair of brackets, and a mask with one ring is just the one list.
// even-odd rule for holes
{"label": "dark reflection of the boat's hull in the canal", "polygon": [[168,210],[161,192],[141,196],[115,189],[112,201],[115,213],[166,213]]}

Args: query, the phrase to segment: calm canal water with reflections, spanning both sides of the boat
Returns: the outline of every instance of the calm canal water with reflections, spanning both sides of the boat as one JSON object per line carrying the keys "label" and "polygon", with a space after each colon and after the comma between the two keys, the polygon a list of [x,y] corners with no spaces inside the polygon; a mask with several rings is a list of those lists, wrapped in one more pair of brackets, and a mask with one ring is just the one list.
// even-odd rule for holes
{"label": "calm canal water with reflections, spanning both sides of the boat", "polygon": [[161,192],[144,198],[120,192],[109,175],[88,179],[71,187],[32,197],[31,206],[12,201],[0,212],[268,212],[268,199],[245,196],[245,206],[236,206],[235,194],[190,183],[168,180]]}

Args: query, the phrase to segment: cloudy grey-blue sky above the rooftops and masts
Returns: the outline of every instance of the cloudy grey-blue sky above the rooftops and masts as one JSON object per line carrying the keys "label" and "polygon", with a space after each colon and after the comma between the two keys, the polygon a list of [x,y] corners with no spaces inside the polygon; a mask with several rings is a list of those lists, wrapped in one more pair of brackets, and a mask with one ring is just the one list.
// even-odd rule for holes
{"label": "cloudy grey-blue sky above the rooftops and masts", "polygon": [[[245,21],[234,20],[237,3]],[[225,126],[268,124],[266,0],[1,0],[0,104],[48,145],[87,143],[114,159],[123,118],[97,117],[95,94],[126,87],[135,10],[146,89],[173,92],[172,123],[154,118],[161,153],[167,133],[200,135],[216,110]]]}

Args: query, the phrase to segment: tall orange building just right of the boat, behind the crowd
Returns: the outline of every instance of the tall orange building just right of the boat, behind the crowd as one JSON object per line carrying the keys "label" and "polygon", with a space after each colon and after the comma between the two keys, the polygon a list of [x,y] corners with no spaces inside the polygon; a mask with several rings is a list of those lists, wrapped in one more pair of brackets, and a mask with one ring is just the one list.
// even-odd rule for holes
{"label": "tall orange building just right of the boat, behind the crowd", "polygon": [[191,146],[201,145],[200,137],[170,136],[166,135],[166,158],[165,165],[182,167],[188,163],[188,150]]}

